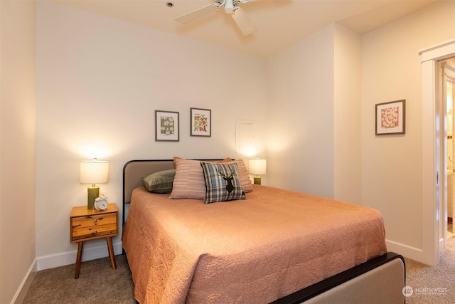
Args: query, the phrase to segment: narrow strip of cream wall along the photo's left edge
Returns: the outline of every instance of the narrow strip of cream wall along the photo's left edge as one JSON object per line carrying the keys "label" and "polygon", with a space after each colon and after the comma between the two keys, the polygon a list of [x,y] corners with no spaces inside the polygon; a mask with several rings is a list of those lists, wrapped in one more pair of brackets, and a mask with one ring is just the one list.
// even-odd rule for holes
{"label": "narrow strip of cream wall along the photo's left edge", "polygon": [[0,22],[0,303],[11,303],[36,257],[36,2],[0,1]]}

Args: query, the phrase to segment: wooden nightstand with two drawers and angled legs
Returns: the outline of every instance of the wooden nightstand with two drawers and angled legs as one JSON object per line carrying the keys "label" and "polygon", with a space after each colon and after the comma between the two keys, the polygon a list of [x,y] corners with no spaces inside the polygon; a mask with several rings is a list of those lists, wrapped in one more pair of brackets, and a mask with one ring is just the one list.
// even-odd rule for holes
{"label": "wooden nightstand with two drawers and angled legs", "polygon": [[108,204],[107,209],[103,211],[87,209],[87,206],[73,208],[70,214],[70,242],[78,243],[74,278],[79,278],[82,247],[85,241],[106,238],[112,269],[115,269],[112,236],[119,235],[118,216],[119,210],[114,203]]}

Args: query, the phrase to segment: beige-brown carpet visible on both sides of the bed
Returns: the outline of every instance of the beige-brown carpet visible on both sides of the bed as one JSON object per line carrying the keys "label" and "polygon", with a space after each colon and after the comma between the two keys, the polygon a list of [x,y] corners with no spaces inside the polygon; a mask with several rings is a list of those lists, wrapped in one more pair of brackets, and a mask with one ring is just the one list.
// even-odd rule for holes
{"label": "beige-brown carpet visible on both sides of the bed", "polygon": [[[406,258],[407,285],[412,295],[407,304],[455,303],[455,237],[441,253],[441,263],[429,267]],[[74,279],[74,265],[39,271],[26,294],[26,304],[136,303],[134,285],[125,256],[115,256],[117,270],[109,258],[83,262]]]}

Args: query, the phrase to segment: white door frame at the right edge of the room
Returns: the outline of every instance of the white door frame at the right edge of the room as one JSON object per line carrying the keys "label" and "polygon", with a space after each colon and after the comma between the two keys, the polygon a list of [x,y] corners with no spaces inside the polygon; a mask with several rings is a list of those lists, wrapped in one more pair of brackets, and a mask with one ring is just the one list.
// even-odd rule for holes
{"label": "white door frame at the right edge of the room", "polygon": [[[441,161],[441,111],[437,63],[455,56],[455,39],[419,51],[422,63],[422,258],[430,266],[439,263],[441,199],[445,167]],[[444,120],[442,120],[444,122]],[[444,133],[444,130],[443,130]],[[444,146],[444,144],[443,144]],[[442,151],[444,157],[444,151]],[[443,171],[444,170],[444,171]],[[443,173],[443,174],[440,174]],[[443,180],[439,181],[442,175]]]}

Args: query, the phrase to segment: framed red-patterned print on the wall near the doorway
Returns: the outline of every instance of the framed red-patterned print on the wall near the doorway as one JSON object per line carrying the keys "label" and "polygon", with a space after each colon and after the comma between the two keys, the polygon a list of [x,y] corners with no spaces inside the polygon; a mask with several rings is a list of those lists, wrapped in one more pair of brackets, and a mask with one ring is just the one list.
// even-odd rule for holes
{"label": "framed red-patterned print on the wall near the doorway", "polygon": [[405,134],[406,100],[376,105],[376,135]]}

